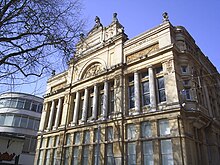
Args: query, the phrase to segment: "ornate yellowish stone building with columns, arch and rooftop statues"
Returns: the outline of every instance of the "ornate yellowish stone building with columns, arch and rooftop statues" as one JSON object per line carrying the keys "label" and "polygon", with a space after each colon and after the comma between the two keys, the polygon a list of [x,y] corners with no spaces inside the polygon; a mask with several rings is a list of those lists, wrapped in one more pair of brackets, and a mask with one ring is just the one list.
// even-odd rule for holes
{"label": "ornate yellowish stone building with columns, arch and rooftop statues", "polygon": [[182,26],[128,39],[114,14],[48,80],[35,164],[214,165],[220,76]]}

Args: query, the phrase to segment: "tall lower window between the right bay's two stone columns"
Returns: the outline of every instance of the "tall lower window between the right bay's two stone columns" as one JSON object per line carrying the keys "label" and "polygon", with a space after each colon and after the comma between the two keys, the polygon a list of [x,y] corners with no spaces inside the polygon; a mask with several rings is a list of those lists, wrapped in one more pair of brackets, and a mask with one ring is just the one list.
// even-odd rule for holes
{"label": "tall lower window between the right bay's two stone columns", "polygon": [[142,86],[142,104],[149,105],[150,104],[150,88],[149,81],[144,81],[141,83]]}

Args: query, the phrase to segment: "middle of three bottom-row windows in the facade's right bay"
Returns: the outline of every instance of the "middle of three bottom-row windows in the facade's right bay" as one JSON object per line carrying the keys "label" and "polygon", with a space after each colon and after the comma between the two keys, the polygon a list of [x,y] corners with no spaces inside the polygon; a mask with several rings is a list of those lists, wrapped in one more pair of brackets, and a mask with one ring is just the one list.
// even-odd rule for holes
{"label": "middle of three bottom-row windows in the facade's right bay", "polygon": [[154,165],[152,141],[143,142],[143,159],[144,165]]}

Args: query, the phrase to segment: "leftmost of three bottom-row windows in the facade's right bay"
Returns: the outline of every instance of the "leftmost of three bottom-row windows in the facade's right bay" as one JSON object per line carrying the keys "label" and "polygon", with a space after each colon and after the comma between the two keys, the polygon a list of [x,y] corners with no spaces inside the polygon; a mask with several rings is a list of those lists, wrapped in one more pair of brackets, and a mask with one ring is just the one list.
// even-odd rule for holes
{"label": "leftmost of three bottom-row windows in the facade's right bay", "polygon": [[136,144],[135,144],[135,142],[128,143],[127,159],[128,159],[128,165],[135,165],[136,164]]}

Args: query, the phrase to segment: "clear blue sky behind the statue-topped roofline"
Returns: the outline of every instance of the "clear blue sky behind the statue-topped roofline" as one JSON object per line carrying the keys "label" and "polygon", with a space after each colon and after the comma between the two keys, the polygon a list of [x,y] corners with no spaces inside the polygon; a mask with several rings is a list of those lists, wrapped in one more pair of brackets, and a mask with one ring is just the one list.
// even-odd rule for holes
{"label": "clear blue sky behind the statue-topped roofline", "polygon": [[[95,16],[108,26],[114,12],[131,39],[162,22],[162,13],[168,12],[174,26],[184,26],[202,52],[220,71],[220,0],[81,0],[87,31],[94,26]],[[30,77],[31,78],[31,77]],[[42,96],[46,78],[35,84],[17,87],[18,92]]]}

